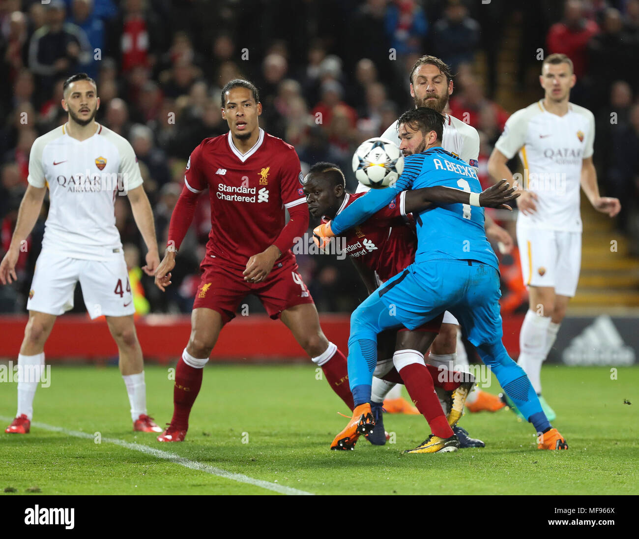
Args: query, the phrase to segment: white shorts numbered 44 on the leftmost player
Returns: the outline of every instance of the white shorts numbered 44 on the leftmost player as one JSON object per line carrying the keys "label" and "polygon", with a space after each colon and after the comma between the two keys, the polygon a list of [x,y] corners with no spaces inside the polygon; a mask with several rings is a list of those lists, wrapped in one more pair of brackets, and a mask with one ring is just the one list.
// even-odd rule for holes
{"label": "white shorts numbered 44 on the leftmost player", "polygon": [[121,248],[106,261],[69,258],[55,251],[42,251],[36,261],[27,310],[62,315],[73,309],[73,291],[78,281],[91,318],[135,313]]}

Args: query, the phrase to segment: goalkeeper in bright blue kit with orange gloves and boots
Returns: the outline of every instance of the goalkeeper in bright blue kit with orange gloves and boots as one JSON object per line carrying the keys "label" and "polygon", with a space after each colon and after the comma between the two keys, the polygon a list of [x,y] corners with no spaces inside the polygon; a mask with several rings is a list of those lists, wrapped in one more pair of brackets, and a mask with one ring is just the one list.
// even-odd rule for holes
{"label": "goalkeeper in bright blue kit with orange gloves and boots", "polygon": [[[337,435],[368,434],[374,425],[371,384],[376,364],[377,335],[404,325],[415,329],[443,311],[454,315],[505,393],[537,430],[539,449],[567,449],[550,425],[526,373],[509,357],[502,344],[497,256],[484,233],[482,191],[477,172],[442,148],[443,116],[425,107],[404,113],[397,123],[402,146],[419,143],[418,152],[404,158],[404,171],[394,185],[373,189],[320,225],[320,244],[366,221],[401,191],[443,185],[470,192],[470,204],[434,204],[415,215],[415,262],[371,294],[351,316],[348,341],[348,379],[355,400],[353,418]],[[408,363],[423,363],[414,350],[396,350],[397,370]],[[370,356],[370,357],[369,357]],[[401,364],[399,364],[401,363]],[[456,436],[431,434],[408,453],[455,451]]]}

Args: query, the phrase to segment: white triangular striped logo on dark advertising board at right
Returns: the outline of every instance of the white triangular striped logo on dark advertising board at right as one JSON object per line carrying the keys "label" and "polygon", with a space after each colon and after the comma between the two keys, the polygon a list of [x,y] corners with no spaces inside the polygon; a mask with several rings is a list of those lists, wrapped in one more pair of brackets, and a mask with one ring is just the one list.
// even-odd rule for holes
{"label": "white triangular striped logo on dark advertising board at right", "polygon": [[631,365],[635,350],[624,344],[612,318],[597,316],[564,350],[567,365]]}

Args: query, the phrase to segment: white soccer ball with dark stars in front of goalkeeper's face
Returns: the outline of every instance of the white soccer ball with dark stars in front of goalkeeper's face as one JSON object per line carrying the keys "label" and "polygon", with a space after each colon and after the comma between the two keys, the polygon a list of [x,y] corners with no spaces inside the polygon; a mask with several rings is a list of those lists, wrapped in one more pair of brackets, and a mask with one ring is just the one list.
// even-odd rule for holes
{"label": "white soccer ball with dark stars in front of goalkeeper's face", "polygon": [[375,137],[360,144],[353,155],[353,172],[366,187],[388,187],[401,176],[404,156],[391,141]]}

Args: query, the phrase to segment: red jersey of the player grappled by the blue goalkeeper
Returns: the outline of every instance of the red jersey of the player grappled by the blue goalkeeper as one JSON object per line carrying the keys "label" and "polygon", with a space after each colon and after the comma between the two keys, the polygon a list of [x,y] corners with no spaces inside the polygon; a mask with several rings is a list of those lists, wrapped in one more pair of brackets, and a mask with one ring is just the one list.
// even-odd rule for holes
{"label": "red jersey of the player grappled by the blue goalkeeper", "polygon": [[[364,195],[366,192],[346,193],[337,214]],[[400,207],[404,205],[400,204],[399,199],[403,196],[404,193],[400,193],[364,223],[344,233],[344,249],[348,256],[359,258],[366,267],[377,272],[382,282],[415,261],[417,237],[401,213]]]}

